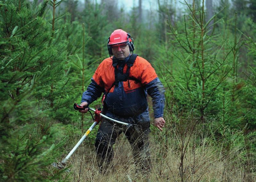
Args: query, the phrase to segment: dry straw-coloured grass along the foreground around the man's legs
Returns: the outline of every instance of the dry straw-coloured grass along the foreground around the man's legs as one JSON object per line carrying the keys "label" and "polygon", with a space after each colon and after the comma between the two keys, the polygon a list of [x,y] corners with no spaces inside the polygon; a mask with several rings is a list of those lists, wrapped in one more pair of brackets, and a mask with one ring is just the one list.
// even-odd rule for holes
{"label": "dry straw-coloured grass along the foreground around the man's legs", "polygon": [[[216,146],[202,141],[197,145],[196,136],[185,138],[188,142],[183,159],[183,174],[181,174],[180,142],[175,135],[164,145],[163,135],[151,137],[152,171],[148,176],[135,172],[131,147],[121,135],[115,144],[113,165],[106,175],[98,172],[94,148],[88,144],[80,147],[70,158],[72,172],[70,181],[170,181],[170,182],[255,182],[255,173],[250,172],[253,166],[244,164],[241,159],[243,148],[232,146],[228,153],[216,149]],[[84,148],[84,155],[83,155]],[[221,151],[221,152],[220,152]],[[240,152],[239,152],[240,151]]]}

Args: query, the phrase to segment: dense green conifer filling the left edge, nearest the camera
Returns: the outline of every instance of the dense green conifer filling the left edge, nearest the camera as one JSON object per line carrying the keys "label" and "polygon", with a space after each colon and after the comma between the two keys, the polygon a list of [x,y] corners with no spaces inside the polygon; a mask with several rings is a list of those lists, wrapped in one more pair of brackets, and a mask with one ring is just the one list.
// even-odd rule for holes
{"label": "dense green conifer filling the left edge, nearest the camera", "polygon": [[49,172],[60,144],[47,108],[50,85],[64,75],[66,45],[52,38],[46,7],[46,1],[0,3],[1,181],[61,179]]}

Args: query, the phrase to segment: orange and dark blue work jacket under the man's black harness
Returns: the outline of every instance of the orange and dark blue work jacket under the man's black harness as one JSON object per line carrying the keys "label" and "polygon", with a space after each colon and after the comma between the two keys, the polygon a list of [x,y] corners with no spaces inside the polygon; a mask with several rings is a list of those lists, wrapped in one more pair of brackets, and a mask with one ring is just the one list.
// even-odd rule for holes
{"label": "orange and dark blue work jacket under the man's black harness", "polygon": [[[118,71],[126,73],[128,58],[118,65]],[[89,104],[100,97],[101,93],[108,93],[105,99],[106,108],[115,115],[133,117],[148,108],[147,93],[152,97],[154,117],[163,117],[164,89],[154,68],[144,58],[137,56],[130,68],[129,77],[134,80],[120,81],[118,87],[115,82],[115,69],[112,57],[103,60],[96,69],[92,82],[83,93],[82,102]],[[128,83],[129,82],[129,83]]]}

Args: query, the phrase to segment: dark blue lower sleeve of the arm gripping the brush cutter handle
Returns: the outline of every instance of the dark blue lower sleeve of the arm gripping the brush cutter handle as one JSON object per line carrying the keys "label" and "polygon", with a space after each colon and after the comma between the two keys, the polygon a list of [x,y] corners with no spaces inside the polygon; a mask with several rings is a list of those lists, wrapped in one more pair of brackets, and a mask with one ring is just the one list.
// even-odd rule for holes
{"label": "dark blue lower sleeve of the arm gripping the brush cutter handle", "polygon": [[82,102],[88,102],[88,104],[91,104],[93,101],[95,101],[97,98],[101,96],[101,93],[104,92],[104,88],[100,87],[92,78],[92,82],[87,87],[87,90],[82,95]]}

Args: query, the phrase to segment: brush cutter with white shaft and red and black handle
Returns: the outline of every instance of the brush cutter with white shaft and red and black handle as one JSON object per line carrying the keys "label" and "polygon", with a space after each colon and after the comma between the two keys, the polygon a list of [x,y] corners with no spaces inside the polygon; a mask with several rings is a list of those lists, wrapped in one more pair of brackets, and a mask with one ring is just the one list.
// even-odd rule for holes
{"label": "brush cutter with white shaft and red and black handle", "polygon": [[[79,106],[77,103],[74,103],[74,109],[75,110],[84,110],[85,108],[89,108],[89,107],[81,107]],[[90,112],[90,110],[92,110],[95,114],[95,118],[93,118],[93,114]],[[82,143],[82,141],[87,137],[87,135],[93,130],[94,126],[96,126],[100,120],[101,120],[101,117],[103,118],[106,118],[110,121],[113,121],[113,122],[116,122],[116,123],[120,123],[120,124],[123,124],[123,125],[126,125],[126,126],[130,126],[131,124],[129,123],[125,123],[125,122],[121,122],[121,121],[117,121],[115,119],[112,119],[112,118],[109,118],[108,116],[105,116],[104,114],[101,114],[101,108],[99,109],[92,109],[92,108],[89,108],[89,112],[91,113],[92,115],[92,118],[94,120],[93,124],[91,125],[91,127],[86,131],[86,133],[83,135],[83,137],[81,137],[81,139],[77,142],[77,144],[74,146],[74,148],[69,152],[69,154],[59,163],[56,163],[54,162],[52,165],[53,167],[55,168],[58,168],[58,169],[64,169],[65,168],[65,165],[66,165],[66,162],[67,160],[69,159],[69,157],[75,152],[75,150],[78,148],[78,146]],[[67,169],[67,171],[69,172],[70,169]]]}

